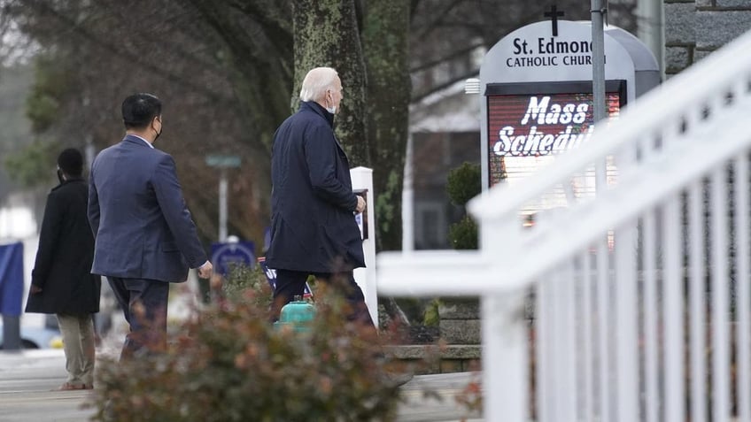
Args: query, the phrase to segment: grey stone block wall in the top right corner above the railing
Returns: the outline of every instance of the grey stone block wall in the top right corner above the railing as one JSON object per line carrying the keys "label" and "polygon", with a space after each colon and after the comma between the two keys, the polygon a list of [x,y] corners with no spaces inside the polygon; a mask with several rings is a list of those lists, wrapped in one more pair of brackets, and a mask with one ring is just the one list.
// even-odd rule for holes
{"label": "grey stone block wall in the top right corner above the railing", "polygon": [[664,0],[664,4],[669,78],[751,29],[751,0]]}

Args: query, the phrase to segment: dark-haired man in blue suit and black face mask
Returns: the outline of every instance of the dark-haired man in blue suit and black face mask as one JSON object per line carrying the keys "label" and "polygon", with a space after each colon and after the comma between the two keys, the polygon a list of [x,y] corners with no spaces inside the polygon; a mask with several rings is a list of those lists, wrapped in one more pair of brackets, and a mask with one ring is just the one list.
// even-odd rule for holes
{"label": "dark-haired man in blue suit and black face mask", "polygon": [[166,334],[169,283],[188,269],[209,278],[196,226],[182,198],[174,159],[153,147],[162,132],[161,102],[151,94],[122,103],[125,138],[91,167],[89,223],[96,238],[91,272],[107,276],[130,324],[120,358],[159,350]]}

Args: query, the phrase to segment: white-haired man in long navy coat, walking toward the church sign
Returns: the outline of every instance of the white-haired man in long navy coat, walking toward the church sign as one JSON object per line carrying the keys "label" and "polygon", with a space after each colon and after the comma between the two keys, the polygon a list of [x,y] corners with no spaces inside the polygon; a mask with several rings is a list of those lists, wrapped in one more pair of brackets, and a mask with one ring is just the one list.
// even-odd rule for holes
{"label": "white-haired man in long navy coat, walking toward the church sign", "polygon": [[[334,135],[342,82],[330,67],[307,73],[299,111],[276,130],[271,157],[271,243],[267,265],[276,270],[272,318],[302,295],[309,274],[343,280],[351,320],[373,325],[352,270],[365,266],[354,214],[365,200],[352,193],[350,165]],[[341,286],[342,284],[337,284]]]}

